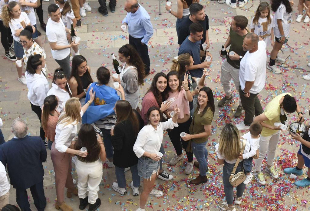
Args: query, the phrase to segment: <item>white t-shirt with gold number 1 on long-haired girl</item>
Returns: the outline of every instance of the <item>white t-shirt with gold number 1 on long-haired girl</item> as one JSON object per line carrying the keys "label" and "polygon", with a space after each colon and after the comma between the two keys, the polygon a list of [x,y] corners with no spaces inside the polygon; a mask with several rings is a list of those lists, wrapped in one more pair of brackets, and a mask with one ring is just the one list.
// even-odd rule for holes
{"label": "white t-shirt with gold number 1 on long-haired girl", "polygon": [[253,24],[253,19],[251,21],[251,29],[254,29],[254,33],[257,34],[259,37],[261,37],[266,45],[271,44],[271,29],[273,26],[273,16],[270,15],[271,18],[271,23],[268,24],[268,19],[267,18],[259,18],[258,24]]}

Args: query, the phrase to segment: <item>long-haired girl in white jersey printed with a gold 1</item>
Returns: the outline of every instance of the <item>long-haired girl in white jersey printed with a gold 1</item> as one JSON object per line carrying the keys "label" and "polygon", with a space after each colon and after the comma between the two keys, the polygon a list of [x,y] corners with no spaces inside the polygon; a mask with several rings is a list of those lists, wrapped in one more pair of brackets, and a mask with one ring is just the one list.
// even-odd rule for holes
{"label": "long-haired girl in white jersey printed with a gold 1", "polygon": [[251,32],[261,37],[266,46],[273,46],[273,16],[270,15],[270,7],[267,2],[261,2],[257,7],[255,16],[251,21]]}

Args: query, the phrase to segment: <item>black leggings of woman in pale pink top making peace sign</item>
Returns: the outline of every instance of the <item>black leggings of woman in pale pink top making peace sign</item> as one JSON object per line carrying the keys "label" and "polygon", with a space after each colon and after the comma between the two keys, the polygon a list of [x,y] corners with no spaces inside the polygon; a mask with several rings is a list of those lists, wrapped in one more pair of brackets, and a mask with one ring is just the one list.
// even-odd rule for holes
{"label": "black leggings of woman in pale pink top making peace sign", "polygon": [[182,154],[182,146],[183,146],[187,155],[188,162],[193,161],[193,153],[186,151],[188,141],[184,141],[182,138],[180,138],[180,133],[185,132],[189,134],[189,126],[192,123],[192,120],[193,120],[192,117],[190,117],[186,122],[178,123],[179,127],[174,127],[172,130],[168,131],[169,138],[175,148],[176,154],[177,155]]}

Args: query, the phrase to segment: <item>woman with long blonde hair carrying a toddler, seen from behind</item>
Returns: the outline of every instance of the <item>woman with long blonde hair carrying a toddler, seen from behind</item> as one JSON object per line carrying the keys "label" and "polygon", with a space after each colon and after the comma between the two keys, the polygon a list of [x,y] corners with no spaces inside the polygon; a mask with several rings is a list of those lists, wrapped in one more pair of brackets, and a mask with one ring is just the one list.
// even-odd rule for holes
{"label": "woman with long blonde hair carrying a toddler, seen from behind", "polygon": [[[241,152],[242,141],[240,140],[240,134],[237,127],[228,123],[225,124],[220,138],[219,143],[215,146],[217,162],[219,165],[224,164],[223,166],[223,184],[224,184],[224,193],[226,201],[219,201],[218,204],[222,210],[236,210],[233,205],[233,187],[229,182],[230,174],[234,168],[237,158]],[[242,171],[242,163],[239,162],[236,173]],[[242,182],[237,186],[237,194],[235,198],[235,204],[241,204],[243,192],[246,188],[246,185]]]}

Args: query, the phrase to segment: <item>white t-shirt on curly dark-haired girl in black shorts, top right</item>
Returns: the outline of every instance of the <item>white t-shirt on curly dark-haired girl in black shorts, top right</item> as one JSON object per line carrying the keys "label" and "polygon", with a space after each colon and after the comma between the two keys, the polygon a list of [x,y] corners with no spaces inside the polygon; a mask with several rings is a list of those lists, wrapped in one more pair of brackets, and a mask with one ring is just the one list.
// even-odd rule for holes
{"label": "white t-shirt on curly dark-haired girl in black shorts, top right", "polygon": [[287,35],[290,32],[290,24],[292,22],[292,13],[287,13],[286,8],[283,3],[280,4],[280,7],[277,9],[276,13],[274,14],[274,36],[280,37],[281,33],[279,31],[279,27],[277,24],[277,19],[282,20],[282,26],[284,31],[284,37],[287,37]]}

